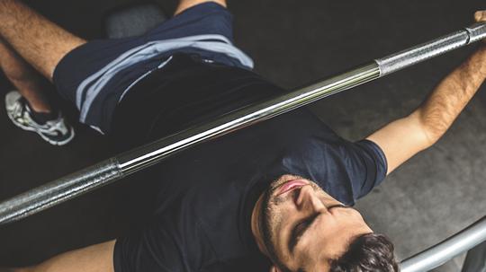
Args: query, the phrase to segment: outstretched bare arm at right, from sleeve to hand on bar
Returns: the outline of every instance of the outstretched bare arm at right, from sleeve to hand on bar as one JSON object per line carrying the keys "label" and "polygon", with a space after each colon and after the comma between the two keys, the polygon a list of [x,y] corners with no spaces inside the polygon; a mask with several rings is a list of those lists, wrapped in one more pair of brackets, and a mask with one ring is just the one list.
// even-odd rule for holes
{"label": "outstretched bare arm at right, from sleeve to hand on bar", "polygon": [[[486,11],[475,14],[486,21]],[[437,85],[410,116],[393,121],[367,139],[383,149],[388,173],[415,154],[434,145],[473,98],[486,78],[486,44]]]}

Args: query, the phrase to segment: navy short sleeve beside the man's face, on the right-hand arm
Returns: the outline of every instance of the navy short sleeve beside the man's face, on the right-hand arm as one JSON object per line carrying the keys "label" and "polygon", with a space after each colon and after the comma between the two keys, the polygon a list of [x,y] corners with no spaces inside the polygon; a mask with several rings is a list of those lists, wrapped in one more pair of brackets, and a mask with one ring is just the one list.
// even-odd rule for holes
{"label": "navy short sleeve beside the man's face, on the right-hand arm", "polygon": [[353,205],[385,178],[387,162],[374,142],[338,136],[311,137],[284,155],[284,171],[317,182],[339,201]]}

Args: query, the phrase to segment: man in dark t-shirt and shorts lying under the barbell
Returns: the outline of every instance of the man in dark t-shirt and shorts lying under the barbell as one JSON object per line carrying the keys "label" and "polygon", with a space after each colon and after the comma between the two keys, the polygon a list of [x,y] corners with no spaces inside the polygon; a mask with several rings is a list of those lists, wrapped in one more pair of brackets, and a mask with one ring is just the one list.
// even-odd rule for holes
{"label": "man in dark t-shirt and shorts lying under the barbell", "polygon": [[[284,92],[249,71],[225,6],[183,0],[142,37],[85,43],[0,0],[0,37],[76,102],[82,121],[140,145]],[[143,227],[12,270],[397,271],[392,243],[350,205],[437,142],[485,77],[483,46],[418,110],[356,143],[302,109],[196,146],[143,173],[160,181]]]}

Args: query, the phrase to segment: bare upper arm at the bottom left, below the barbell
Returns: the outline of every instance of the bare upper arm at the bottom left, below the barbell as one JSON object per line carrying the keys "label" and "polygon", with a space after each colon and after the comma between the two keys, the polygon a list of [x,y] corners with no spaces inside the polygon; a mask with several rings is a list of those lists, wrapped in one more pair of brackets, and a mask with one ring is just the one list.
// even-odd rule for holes
{"label": "bare upper arm at the bottom left, below the barbell", "polygon": [[107,241],[81,250],[73,250],[38,266],[18,268],[14,272],[113,272],[115,241]]}

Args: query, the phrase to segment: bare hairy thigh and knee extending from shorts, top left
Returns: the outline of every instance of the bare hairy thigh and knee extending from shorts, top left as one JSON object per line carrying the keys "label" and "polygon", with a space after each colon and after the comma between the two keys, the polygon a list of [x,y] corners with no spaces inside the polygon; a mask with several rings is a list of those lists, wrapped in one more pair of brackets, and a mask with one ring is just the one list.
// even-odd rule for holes
{"label": "bare hairy thigh and knee extending from shorts, top left", "polygon": [[0,37],[50,81],[60,59],[85,43],[17,0],[0,0]]}

